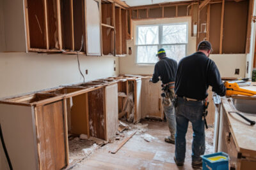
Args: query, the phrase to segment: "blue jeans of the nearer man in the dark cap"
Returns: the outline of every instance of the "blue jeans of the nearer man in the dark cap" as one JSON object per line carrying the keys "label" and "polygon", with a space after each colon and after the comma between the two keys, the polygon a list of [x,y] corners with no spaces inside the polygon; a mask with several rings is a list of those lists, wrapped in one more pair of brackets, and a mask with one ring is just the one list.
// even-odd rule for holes
{"label": "blue jeans of the nearer man in the dark cap", "polygon": [[177,131],[175,134],[175,158],[178,162],[184,162],[186,153],[186,132],[188,122],[193,126],[192,162],[202,161],[200,155],[205,152],[204,120],[202,120],[204,104],[199,101],[184,101],[178,97],[175,108]]}

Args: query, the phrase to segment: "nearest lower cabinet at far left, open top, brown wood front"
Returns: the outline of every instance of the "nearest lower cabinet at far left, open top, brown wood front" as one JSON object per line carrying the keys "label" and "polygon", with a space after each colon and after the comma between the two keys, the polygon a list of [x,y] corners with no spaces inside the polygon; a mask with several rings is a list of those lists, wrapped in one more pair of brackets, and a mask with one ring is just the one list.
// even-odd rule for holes
{"label": "nearest lower cabinet at far left, open top, brown wood front", "polygon": [[13,169],[68,166],[63,96],[31,94],[0,102],[4,143]]}

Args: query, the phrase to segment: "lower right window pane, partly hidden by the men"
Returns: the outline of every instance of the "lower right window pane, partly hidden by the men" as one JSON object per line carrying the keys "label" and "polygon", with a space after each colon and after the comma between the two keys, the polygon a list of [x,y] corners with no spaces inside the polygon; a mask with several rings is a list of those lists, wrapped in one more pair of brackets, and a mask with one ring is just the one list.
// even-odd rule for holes
{"label": "lower right window pane, partly hidden by the men", "polygon": [[186,56],[186,45],[163,45],[167,57],[180,61]]}

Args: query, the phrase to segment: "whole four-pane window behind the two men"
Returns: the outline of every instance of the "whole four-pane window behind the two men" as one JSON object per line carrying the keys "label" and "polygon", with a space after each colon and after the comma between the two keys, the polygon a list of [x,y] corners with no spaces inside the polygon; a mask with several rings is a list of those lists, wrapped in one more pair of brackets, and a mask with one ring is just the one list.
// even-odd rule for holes
{"label": "whole four-pane window behind the two men", "polygon": [[186,56],[188,24],[136,26],[136,63],[154,64],[157,50],[164,48],[167,57],[177,60]]}

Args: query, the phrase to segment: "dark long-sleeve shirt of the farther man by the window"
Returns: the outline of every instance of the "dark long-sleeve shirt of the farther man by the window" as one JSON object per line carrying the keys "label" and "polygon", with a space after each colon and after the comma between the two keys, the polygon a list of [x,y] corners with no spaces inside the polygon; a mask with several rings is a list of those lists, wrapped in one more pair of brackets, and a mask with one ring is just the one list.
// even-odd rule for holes
{"label": "dark long-sleeve shirt of the farther man by the window", "polygon": [[175,74],[177,71],[177,61],[164,57],[156,63],[152,82],[157,83],[159,77],[163,84],[170,83],[175,80]]}

